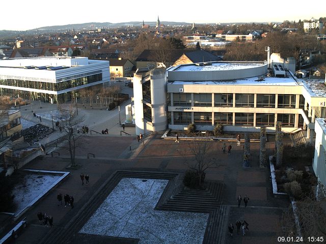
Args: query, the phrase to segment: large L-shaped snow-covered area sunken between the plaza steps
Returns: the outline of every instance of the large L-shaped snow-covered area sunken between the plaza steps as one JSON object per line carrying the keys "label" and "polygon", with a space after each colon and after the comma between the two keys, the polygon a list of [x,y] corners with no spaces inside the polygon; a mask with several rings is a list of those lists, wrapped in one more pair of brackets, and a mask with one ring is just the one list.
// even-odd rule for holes
{"label": "large L-shaped snow-covered area sunken between the plaza steps", "polygon": [[140,238],[139,243],[202,243],[208,214],[157,211],[164,179],[123,178],[80,233]]}

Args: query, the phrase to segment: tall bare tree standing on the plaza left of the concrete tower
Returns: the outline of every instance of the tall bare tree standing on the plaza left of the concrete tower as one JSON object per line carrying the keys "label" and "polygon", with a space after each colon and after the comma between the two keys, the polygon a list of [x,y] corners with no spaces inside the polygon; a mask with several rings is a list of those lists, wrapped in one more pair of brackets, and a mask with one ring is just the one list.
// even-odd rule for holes
{"label": "tall bare tree standing on the plaza left of the concrete tower", "polygon": [[84,119],[82,117],[78,117],[78,115],[74,113],[73,103],[71,103],[68,110],[60,109],[60,113],[60,126],[64,133],[64,141],[66,142],[66,145],[60,147],[69,151],[71,166],[76,166],[76,148],[81,145],[78,141],[80,138],[79,128]]}

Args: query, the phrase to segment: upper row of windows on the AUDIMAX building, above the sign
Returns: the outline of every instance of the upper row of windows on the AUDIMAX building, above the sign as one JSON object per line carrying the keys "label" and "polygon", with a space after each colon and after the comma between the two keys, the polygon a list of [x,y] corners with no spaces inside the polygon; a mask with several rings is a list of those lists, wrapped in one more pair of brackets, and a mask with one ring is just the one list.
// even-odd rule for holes
{"label": "upper row of windows on the AUDIMAX building, above the sign", "polygon": [[[214,107],[233,107],[233,94],[214,94]],[[212,94],[174,93],[173,106],[211,107]],[[236,107],[254,107],[254,94],[235,94]],[[257,108],[275,108],[275,94],[257,94]],[[168,98],[169,99],[169,98]],[[296,95],[278,95],[278,108],[295,108]],[[300,95],[299,108],[304,108],[305,99]]]}

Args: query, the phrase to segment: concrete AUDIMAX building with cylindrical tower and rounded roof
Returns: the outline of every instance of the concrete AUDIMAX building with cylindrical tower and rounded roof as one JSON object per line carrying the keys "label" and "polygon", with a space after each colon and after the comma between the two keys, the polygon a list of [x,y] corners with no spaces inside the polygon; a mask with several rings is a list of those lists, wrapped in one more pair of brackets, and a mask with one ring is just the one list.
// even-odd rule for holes
{"label": "concrete AUDIMAX building with cylindrical tower and rounded roof", "polygon": [[315,118],[326,117],[325,84],[297,80],[282,65],[277,65],[279,74],[267,67],[267,62],[212,62],[170,67],[166,74],[162,68],[137,74],[137,132],[144,127],[186,130],[192,123],[203,131],[220,123],[225,131],[258,132],[265,126],[275,132],[281,121],[284,132],[303,128],[312,139]]}

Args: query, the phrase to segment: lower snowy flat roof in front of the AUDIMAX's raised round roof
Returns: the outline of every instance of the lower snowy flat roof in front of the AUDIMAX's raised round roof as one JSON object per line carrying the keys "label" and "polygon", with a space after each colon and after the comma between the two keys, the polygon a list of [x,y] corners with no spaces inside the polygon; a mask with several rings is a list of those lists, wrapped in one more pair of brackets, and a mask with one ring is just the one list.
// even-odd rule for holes
{"label": "lower snowy flat roof in front of the AUDIMAX's raised round roof", "polygon": [[168,84],[174,85],[282,85],[297,86],[300,85],[289,72],[286,77],[257,76],[245,79],[227,80],[227,81],[171,81]]}

